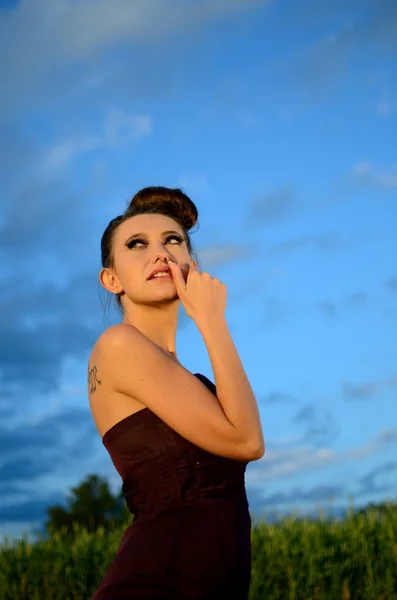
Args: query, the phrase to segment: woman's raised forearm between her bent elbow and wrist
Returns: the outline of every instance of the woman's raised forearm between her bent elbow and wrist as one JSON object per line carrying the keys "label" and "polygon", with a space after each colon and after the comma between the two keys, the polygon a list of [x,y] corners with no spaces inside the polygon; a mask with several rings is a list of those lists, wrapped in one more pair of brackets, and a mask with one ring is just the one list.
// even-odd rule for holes
{"label": "woman's raised forearm between her bent elbow and wrist", "polygon": [[255,395],[224,318],[197,323],[208,350],[217,396],[230,423],[258,452],[264,452]]}

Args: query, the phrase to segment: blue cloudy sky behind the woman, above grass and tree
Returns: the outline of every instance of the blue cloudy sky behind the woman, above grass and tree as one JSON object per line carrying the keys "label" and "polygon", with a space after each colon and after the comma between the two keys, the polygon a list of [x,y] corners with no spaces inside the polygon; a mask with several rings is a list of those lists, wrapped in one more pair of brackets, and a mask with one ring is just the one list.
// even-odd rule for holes
{"label": "blue cloudy sky behind the woman, above grass and tree", "polygon": [[[86,365],[119,318],[102,232],[147,185],[192,197],[228,287],[252,513],[395,500],[396,40],[393,0],[0,1],[3,535],[90,473],[120,488]],[[212,378],[183,314],[177,350]]]}

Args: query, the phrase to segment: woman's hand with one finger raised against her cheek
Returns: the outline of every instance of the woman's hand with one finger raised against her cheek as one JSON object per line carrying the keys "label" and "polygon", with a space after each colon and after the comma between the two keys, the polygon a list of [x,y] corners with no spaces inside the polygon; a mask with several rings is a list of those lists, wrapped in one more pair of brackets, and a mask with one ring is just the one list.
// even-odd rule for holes
{"label": "woman's hand with one finger raised against her cheek", "polygon": [[196,324],[200,320],[224,317],[227,297],[224,283],[209,273],[200,273],[195,264],[190,266],[185,282],[179,266],[171,260],[168,264],[183,308]]}

